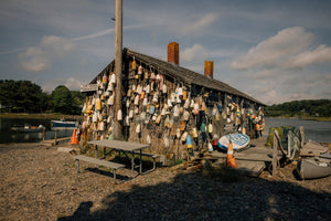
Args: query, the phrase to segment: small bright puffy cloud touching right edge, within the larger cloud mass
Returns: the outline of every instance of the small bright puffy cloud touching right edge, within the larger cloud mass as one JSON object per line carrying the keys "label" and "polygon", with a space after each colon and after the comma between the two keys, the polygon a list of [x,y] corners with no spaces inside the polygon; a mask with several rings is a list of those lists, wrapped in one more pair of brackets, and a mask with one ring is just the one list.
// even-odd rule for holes
{"label": "small bright puffy cloud touching right edge, within the larger cloud mass", "polygon": [[327,45],[320,45],[313,51],[306,51],[293,56],[286,67],[302,69],[308,65],[322,64],[331,62],[331,48]]}

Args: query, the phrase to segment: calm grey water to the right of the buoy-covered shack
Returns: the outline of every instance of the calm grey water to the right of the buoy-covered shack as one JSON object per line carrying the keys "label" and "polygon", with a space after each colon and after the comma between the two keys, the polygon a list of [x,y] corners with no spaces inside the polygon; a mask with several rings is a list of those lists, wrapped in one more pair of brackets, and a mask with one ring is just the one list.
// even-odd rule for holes
{"label": "calm grey water to the right of the buoy-covered shack", "polygon": [[268,136],[270,127],[303,126],[306,141],[311,139],[320,143],[331,143],[331,122],[302,120],[296,118],[269,118],[266,117],[266,129],[264,136]]}

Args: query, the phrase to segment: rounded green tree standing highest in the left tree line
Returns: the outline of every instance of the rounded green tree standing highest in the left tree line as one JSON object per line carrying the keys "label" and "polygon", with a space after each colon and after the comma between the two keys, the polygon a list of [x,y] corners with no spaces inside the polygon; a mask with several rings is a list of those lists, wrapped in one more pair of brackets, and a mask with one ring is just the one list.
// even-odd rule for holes
{"label": "rounded green tree standing highest in the left tree line", "polygon": [[73,97],[72,93],[64,85],[57,86],[52,92],[53,107],[54,112],[62,114],[72,114],[73,108]]}

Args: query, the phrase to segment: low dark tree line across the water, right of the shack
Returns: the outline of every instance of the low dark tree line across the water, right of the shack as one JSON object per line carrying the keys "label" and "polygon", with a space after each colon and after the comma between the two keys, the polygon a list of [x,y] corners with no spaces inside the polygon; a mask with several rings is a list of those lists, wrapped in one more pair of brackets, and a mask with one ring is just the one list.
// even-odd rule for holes
{"label": "low dark tree line across the water, right of the shack", "polygon": [[331,117],[330,99],[303,99],[267,106],[265,116]]}

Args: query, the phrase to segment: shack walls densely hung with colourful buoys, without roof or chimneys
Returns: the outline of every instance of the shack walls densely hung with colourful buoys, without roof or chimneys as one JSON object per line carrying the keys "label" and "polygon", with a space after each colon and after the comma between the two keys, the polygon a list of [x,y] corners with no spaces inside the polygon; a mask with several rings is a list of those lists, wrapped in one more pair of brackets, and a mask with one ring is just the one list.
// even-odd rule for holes
{"label": "shack walls densely hung with colourful buoys, without roof or chimneys", "polygon": [[[264,122],[263,107],[241,97],[184,84],[160,69],[130,57],[124,60],[122,70],[124,137],[129,141],[150,143],[151,152],[168,158],[186,158],[185,136],[192,138],[193,149],[201,151],[213,139],[239,128],[243,131],[245,123],[246,134],[254,137],[254,129],[249,130],[249,126]],[[111,83],[114,65],[110,65],[97,81],[98,91],[86,99],[83,129],[89,134],[89,139],[111,139],[118,115],[113,112],[110,101],[116,87],[116,83]],[[211,128],[212,133],[209,133]]]}

